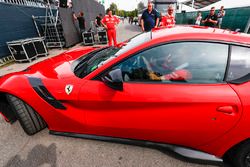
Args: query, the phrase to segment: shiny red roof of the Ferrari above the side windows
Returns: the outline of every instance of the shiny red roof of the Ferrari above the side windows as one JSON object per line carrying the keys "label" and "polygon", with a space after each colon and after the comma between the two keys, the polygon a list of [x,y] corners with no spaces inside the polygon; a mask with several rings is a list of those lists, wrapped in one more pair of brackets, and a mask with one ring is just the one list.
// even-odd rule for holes
{"label": "shiny red roof of the Ferrari above the side windows", "polygon": [[171,28],[155,28],[152,30],[152,40],[166,39],[213,40],[250,45],[250,35],[230,30],[205,26],[174,26]]}

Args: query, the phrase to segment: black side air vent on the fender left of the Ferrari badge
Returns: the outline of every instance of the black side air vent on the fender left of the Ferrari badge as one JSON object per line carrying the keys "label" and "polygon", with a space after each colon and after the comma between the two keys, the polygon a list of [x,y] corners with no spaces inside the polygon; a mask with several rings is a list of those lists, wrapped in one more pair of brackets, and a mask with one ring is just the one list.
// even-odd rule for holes
{"label": "black side air vent on the fender left of the Ferrari badge", "polygon": [[48,89],[43,85],[40,78],[28,78],[31,86],[36,91],[36,93],[43,98],[47,103],[56,109],[66,110],[66,107],[58,100],[56,100]]}

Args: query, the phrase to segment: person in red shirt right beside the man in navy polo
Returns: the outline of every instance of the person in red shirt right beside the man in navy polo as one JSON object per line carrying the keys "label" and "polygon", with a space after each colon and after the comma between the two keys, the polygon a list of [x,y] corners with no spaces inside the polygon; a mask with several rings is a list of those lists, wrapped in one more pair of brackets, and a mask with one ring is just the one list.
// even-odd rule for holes
{"label": "person in red shirt right beside the man in navy polo", "polygon": [[167,15],[162,16],[161,27],[173,27],[175,25],[174,8],[168,7]]}

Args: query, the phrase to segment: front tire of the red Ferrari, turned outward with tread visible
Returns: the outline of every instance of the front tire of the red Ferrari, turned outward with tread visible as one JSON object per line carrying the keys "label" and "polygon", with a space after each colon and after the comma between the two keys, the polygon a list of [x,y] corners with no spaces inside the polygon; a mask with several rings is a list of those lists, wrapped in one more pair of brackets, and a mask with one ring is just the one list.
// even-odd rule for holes
{"label": "front tire of the red Ferrari, turned outward with tread visible", "polygon": [[7,99],[11,104],[23,130],[28,135],[34,135],[35,133],[46,128],[45,121],[28,104],[12,95],[7,95]]}

